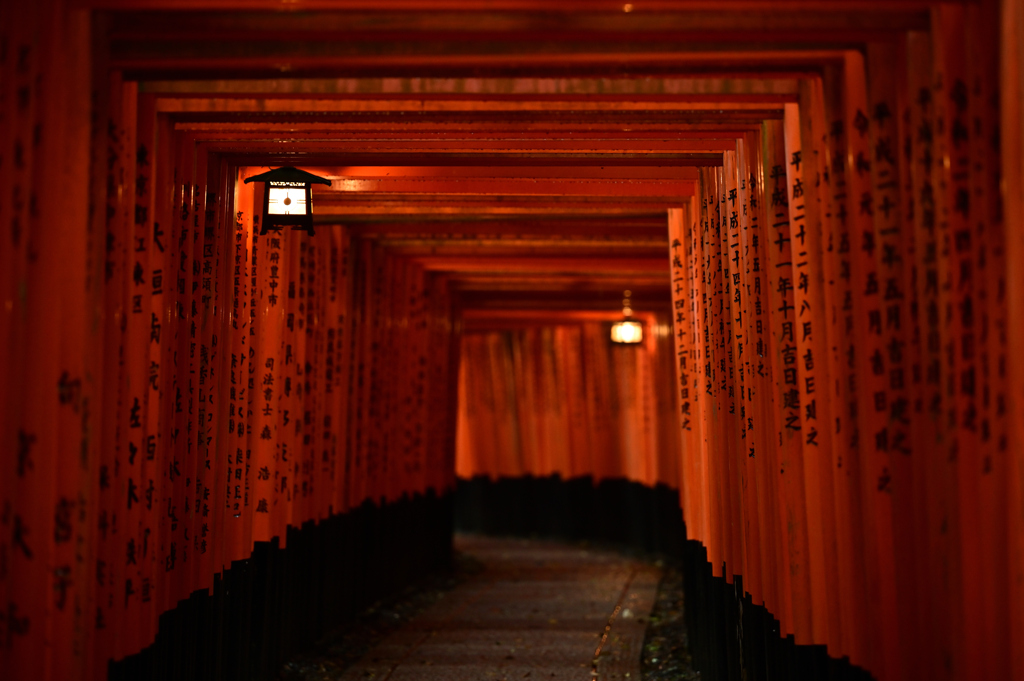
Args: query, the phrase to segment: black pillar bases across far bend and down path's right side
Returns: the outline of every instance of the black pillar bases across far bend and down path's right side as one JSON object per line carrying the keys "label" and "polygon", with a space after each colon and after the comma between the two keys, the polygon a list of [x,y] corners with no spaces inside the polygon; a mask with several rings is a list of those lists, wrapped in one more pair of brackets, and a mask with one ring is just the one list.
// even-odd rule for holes
{"label": "black pillar bases across far bend and down path's right side", "polygon": [[743,593],[742,578],[714,577],[708,552],[686,539],[678,493],[614,479],[484,477],[459,480],[456,528],[618,544],[680,559],[688,647],[705,681],[871,681],[824,646],[797,645]]}

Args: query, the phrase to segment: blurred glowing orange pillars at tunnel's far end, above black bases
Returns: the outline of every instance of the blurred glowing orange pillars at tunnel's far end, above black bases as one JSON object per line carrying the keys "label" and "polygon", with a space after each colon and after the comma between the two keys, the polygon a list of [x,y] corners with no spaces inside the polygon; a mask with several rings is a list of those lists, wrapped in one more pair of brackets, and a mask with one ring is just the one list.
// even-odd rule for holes
{"label": "blurred glowing orange pillars at tunnel's far end, above black bases", "polygon": [[[672,400],[653,397],[656,377],[648,364],[666,351],[670,338],[656,335],[635,347],[611,347],[609,326],[561,322],[474,331],[463,337],[461,380],[466,400],[460,406],[457,463],[461,476],[573,476],[559,467],[555,451],[563,446],[569,435],[567,424],[572,422],[560,405],[578,401],[583,408],[591,396],[589,408],[610,425],[587,438],[582,459],[572,462],[580,466],[578,474],[657,482],[658,439],[653,424],[673,418],[674,409]],[[582,340],[588,344],[579,352]],[[559,351],[562,342],[574,347]],[[538,367],[546,364],[551,371],[541,382]],[[573,364],[579,369],[573,370]],[[597,381],[600,394],[595,399]],[[589,428],[600,427],[589,417],[577,418]],[[598,444],[600,451],[594,452]]]}

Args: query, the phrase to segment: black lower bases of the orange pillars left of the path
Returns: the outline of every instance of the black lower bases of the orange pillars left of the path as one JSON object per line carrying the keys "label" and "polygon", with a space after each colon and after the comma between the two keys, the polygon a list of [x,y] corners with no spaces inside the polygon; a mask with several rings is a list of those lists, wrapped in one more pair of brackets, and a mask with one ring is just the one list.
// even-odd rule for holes
{"label": "black lower bases of the orange pillars left of the path", "polygon": [[334,627],[452,557],[452,496],[432,492],[288,529],[231,564],[212,594],[160,618],[150,647],[111,681],[260,681]]}

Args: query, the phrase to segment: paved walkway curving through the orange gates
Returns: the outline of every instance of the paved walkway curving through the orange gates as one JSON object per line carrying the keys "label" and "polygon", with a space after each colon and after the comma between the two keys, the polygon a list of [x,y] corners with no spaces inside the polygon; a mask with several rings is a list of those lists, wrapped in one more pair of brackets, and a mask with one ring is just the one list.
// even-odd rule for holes
{"label": "paved walkway curving through the orange gates", "polygon": [[371,649],[346,681],[640,680],[655,567],[542,541],[459,537],[456,548],[484,569]]}

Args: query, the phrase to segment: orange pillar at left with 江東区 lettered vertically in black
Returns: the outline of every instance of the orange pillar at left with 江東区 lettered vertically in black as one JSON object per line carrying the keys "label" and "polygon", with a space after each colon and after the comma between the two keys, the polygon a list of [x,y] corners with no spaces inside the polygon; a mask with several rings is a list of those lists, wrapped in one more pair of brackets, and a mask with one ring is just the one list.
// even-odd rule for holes
{"label": "orange pillar at left with \u6c5f\u6771\u533a lettered vertically in black", "polygon": [[[139,634],[148,636],[154,632],[154,610],[159,612],[166,609],[168,603],[176,603],[170,595],[173,583],[166,579],[151,595],[154,606],[142,603],[143,580],[155,572],[155,565],[163,566],[167,546],[163,541],[164,525],[170,511],[163,476],[171,460],[168,450],[172,433],[166,414],[170,396],[173,396],[174,365],[170,347],[174,328],[170,310],[174,289],[173,272],[168,263],[172,262],[170,253],[174,249],[175,229],[165,219],[167,215],[156,215],[153,185],[160,157],[152,98],[140,99],[134,113],[138,122],[134,191],[129,195],[134,200],[126,225],[130,238],[125,248],[124,267],[124,383],[119,410],[120,439],[113,466],[106,471],[114,492],[109,517],[114,542],[109,565],[112,598],[103,614],[111,621],[116,657],[128,654],[126,650],[138,644]],[[170,148],[167,143],[165,150]],[[166,174],[163,180],[168,181]],[[159,235],[159,239],[155,239],[157,224],[164,225],[165,233]],[[154,315],[157,330],[154,329]],[[169,397],[165,399],[164,395]],[[103,471],[100,471],[102,476]],[[146,497],[147,491],[152,502]],[[152,543],[143,546],[147,537]]]}

